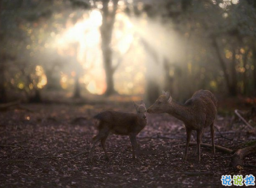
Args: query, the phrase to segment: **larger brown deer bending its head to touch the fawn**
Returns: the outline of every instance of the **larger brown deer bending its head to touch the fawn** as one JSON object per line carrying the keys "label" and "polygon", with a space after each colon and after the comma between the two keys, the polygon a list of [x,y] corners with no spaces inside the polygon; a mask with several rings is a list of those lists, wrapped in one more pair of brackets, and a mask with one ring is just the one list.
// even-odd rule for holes
{"label": "larger brown deer bending its head to touch the fawn", "polygon": [[156,102],[147,109],[148,113],[168,113],[184,122],[187,134],[183,160],[187,160],[192,130],[196,130],[196,153],[198,162],[201,160],[200,144],[206,127],[210,126],[212,135],[212,153],[215,154],[213,122],[217,114],[217,99],[208,90],[196,91],[184,104],[172,101],[170,92],[163,91]]}

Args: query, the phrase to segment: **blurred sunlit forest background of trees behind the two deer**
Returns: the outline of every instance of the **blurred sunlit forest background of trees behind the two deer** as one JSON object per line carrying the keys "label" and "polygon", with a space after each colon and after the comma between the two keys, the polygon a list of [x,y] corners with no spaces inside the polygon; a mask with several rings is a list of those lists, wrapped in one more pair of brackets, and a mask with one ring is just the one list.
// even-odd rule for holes
{"label": "blurred sunlit forest background of trees behind the two deer", "polygon": [[252,0],[0,1],[0,101],[198,89],[255,103]]}

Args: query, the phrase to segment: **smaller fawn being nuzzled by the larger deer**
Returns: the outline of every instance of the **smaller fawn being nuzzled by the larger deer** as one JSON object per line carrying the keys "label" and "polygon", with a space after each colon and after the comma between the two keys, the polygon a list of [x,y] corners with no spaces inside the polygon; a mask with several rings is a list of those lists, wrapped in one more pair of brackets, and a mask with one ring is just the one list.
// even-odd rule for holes
{"label": "smaller fawn being nuzzled by the larger deer", "polygon": [[99,124],[98,134],[93,137],[93,142],[90,149],[89,157],[91,162],[95,144],[97,144],[98,141],[101,141],[105,158],[107,161],[109,161],[109,156],[107,155],[107,151],[105,149],[105,141],[109,133],[128,135],[131,141],[133,159],[135,159],[135,153],[138,158],[136,135],[145,127],[145,125],[147,125],[147,116],[144,101],[140,101],[140,104],[133,102],[133,105],[137,111],[137,114],[123,113],[119,111],[103,111],[93,117],[99,120]]}

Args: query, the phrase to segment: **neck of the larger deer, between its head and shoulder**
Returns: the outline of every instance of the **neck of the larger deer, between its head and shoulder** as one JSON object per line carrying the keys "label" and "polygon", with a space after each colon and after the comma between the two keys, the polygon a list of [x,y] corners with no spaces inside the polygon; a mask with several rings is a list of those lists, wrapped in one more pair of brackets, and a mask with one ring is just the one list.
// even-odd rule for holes
{"label": "neck of the larger deer, between its head and shoulder", "polygon": [[182,120],[184,123],[191,121],[189,107],[185,106],[184,104],[171,102],[166,112],[172,116],[175,116],[175,118]]}

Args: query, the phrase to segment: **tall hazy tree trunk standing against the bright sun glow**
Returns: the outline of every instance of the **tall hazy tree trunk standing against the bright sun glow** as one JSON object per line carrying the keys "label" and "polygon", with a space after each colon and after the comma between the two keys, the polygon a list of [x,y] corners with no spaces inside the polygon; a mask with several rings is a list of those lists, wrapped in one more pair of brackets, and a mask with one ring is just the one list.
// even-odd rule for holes
{"label": "tall hazy tree trunk standing against the bright sun glow", "polygon": [[118,8],[118,0],[114,0],[114,9],[112,12],[109,11],[108,4],[109,0],[102,1],[102,26],[100,27],[100,34],[102,37],[102,55],[103,62],[105,67],[105,75],[106,75],[106,84],[107,89],[105,91],[105,95],[109,96],[114,94],[114,68],[112,67],[112,49],[111,49],[111,39],[112,39],[112,31],[114,28],[114,21],[116,18],[116,9]]}

